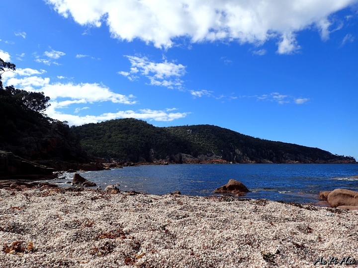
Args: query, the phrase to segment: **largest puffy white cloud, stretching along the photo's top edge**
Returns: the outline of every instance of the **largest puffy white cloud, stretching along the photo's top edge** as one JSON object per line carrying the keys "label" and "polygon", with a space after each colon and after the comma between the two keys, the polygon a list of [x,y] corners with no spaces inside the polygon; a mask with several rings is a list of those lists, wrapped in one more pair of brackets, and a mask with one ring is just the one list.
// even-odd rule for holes
{"label": "largest puffy white cloud, stretching along the photo's top edge", "polygon": [[81,25],[108,25],[111,36],[120,40],[139,38],[157,48],[170,48],[178,37],[187,37],[191,42],[219,40],[255,45],[278,38],[282,41],[277,52],[286,54],[299,47],[292,39],[294,33],[317,25],[325,39],[329,35],[329,16],[357,3],[357,0],[46,1],[58,13]]}

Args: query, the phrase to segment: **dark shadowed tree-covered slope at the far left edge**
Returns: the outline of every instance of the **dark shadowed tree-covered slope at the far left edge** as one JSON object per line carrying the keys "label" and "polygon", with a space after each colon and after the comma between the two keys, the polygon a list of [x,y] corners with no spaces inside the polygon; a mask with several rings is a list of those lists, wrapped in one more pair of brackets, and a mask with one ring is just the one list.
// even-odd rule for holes
{"label": "dark shadowed tree-covered slope at the far left edge", "polygon": [[[15,65],[0,59],[0,79]],[[49,97],[0,84],[0,150],[29,160],[87,161],[67,122],[44,115]]]}

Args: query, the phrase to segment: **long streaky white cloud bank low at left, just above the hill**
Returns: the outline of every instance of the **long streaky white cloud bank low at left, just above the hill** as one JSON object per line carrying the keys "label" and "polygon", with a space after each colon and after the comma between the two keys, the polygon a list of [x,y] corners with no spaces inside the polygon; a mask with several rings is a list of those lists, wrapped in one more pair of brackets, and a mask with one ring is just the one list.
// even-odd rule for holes
{"label": "long streaky white cloud bank low at left, just above the hill", "polygon": [[[31,68],[19,68],[15,71],[3,73],[4,85],[11,85],[27,91],[44,92],[45,96],[51,98],[51,106],[46,109],[46,114],[53,119],[68,121],[70,125],[82,125],[96,123],[118,118],[137,118],[154,121],[173,121],[183,118],[189,113],[173,112],[177,108],[166,108],[165,110],[139,109],[137,111],[125,110],[115,113],[104,113],[101,115],[78,114],[89,106],[76,108],[74,114],[66,114],[61,110],[69,108],[74,104],[98,104],[101,102],[112,102],[116,104],[136,104],[133,95],[122,95],[111,91],[108,87],[97,83],[50,83],[50,78],[41,77],[45,70]],[[61,77],[61,76],[58,76]]]}

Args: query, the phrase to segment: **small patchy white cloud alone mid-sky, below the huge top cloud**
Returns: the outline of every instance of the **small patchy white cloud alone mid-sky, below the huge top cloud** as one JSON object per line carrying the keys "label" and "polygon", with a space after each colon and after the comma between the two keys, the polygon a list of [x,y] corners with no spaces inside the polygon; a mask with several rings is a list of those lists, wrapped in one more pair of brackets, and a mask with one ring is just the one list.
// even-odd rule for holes
{"label": "small patchy white cloud alone mid-sky, below the huge top cloud", "polygon": [[139,78],[139,74],[146,76],[151,85],[165,86],[168,88],[181,88],[183,81],[179,79],[185,74],[185,66],[164,60],[155,63],[147,57],[125,56],[131,63],[130,71],[119,71],[121,74],[133,81]]}

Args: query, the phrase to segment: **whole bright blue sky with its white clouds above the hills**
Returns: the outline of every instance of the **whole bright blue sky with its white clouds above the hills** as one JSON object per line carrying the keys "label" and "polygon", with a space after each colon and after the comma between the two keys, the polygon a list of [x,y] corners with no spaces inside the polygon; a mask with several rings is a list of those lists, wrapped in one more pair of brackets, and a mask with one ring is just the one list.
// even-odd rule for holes
{"label": "whole bright blue sky with its white clouds above the hills", "polygon": [[358,0],[2,0],[3,83],[70,125],[209,124],[358,159]]}

